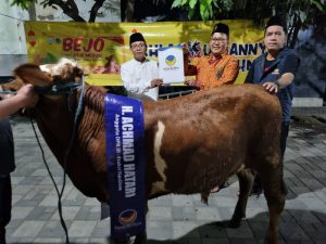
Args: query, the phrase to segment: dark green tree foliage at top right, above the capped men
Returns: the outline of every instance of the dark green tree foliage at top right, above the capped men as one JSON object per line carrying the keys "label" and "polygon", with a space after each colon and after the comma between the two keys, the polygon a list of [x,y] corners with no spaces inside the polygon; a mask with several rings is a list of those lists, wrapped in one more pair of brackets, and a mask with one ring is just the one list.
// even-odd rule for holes
{"label": "dark green tree foliage at top right, above the capped men", "polygon": [[296,44],[300,28],[318,25],[325,16],[326,0],[174,0],[172,8],[188,9],[189,18],[200,16],[206,20],[249,18],[258,25],[277,14],[287,21],[289,26],[288,44]]}

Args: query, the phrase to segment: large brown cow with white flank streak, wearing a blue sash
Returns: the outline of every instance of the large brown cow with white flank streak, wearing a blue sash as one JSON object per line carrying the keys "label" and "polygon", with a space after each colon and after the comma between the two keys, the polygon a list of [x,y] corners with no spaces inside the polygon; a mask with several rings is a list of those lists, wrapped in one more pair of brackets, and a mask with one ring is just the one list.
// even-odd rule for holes
{"label": "large brown cow with white flank streak, wearing a blue sash", "polygon": [[[80,78],[80,70],[65,64],[64,78]],[[60,80],[39,66],[25,64],[14,72],[18,82],[47,87]],[[104,90],[86,86],[84,111],[67,165],[67,174],[85,195],[108,202]],[[76,101],[80,91],[70,95]],[[230,220],[240,226],[252,185],[251,170],[263,181],[269,209],[265,243],[278,243],[278,218],[286,189],[279,149],[280,106],[275,95],[252,85],[225,86],[168,101],[143,102],[148,198],[168,193],[201,193],[234,174],[240,184],[239,200]],[[64,95],[41,95],[35,107],[38,127],[62,164],[73,131],[73,114]],[[136,243],[143,243],[138,236]]]}

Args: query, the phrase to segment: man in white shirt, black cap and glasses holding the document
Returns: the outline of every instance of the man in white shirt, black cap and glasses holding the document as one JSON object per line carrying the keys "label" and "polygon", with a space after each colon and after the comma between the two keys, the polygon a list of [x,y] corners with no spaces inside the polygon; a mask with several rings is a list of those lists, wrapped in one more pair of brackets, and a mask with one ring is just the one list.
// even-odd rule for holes
{"label": "man in white shirt, black cap and glasses holding the document", "polygon": [[128,97],[140,100],[154,100],[159,98],[158,63],[146,57],[147,44],[140,33],[134,33],[129,40],[134,59],[122,64],[121,77],[128,92]]}

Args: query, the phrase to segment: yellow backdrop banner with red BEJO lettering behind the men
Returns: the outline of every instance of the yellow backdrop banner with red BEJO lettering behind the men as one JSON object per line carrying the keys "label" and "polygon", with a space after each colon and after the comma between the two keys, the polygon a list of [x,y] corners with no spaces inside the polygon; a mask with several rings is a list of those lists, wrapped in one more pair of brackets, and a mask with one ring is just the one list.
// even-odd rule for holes
{"label": "yellow backdrop banner with red BEJO lettering behind the men", "polygon": [[[221,21],[230,28],[229,53],[239,60],[237,84],[264,47],[263,30],[251,21]],[[158,49],[187,43],[191,56],[209,54],[209,41],[216,22],[76,23],[25,22],[28,61],[55,63],[61,57],[76,60],[85,69],[86,81],[98,86],[121,86],[120,66],[133,59],[129,36],[142,33],[147,55],[158,60]]]}

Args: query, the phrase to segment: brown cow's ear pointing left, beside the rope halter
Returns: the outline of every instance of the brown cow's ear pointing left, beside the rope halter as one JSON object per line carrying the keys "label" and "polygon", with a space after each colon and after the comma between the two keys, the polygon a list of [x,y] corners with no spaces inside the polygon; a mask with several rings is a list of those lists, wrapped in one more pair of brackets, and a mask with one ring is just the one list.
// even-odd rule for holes
{"label": "brown cow's ear pointing left, beside the rope halter", "polygon": [[46,87],[52,84],[51,76],[42,72],[38,65],[23,64],[14,69],[14,76],[25,84],[33,84],[36,87]]}

